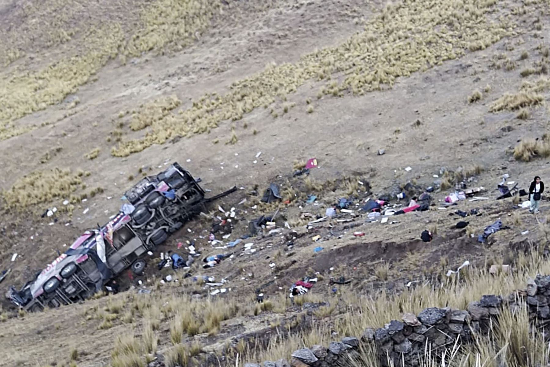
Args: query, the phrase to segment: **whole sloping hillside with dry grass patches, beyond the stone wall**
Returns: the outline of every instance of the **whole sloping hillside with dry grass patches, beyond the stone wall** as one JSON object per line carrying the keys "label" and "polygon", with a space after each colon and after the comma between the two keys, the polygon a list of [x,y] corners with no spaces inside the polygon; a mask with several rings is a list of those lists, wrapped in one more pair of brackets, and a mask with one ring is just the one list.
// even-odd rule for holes
{"label": "whole sloping hillside with dry grass patches, beyond the stone wall", "polygon": [[[497,185],[508,174],[527,190],[550,174],[549,6],[0,0],[0,271],[11,269],[0,293],[23,286],[116,214],[126,189],[168,164],[200,177],[208,196],[238,188],[147,255],[144,277],[123,275],[120,294],[40,314],[2,299],[0,365],[124,367],[117,337],[141,340],[148,330],[155,348],[139,358],[178,346],[203,365],[212,355],[220,364],[237,354],[288,358],[345,336],[362,299],[441,285],[465,260],[480,271],[519,269],[533,245],[546,244],[550,205],[543,195],[532,215],[518,207],[526,196],[496,200]],[[310,158],[318,167],[293,176]],[[462,182],[485,188],[481,199],[445,204]],[[283,199],[266,204],[270,183]],[[399,210],[425,191],[427,211],[387,223],[359,210],[384,196]],[[353,214],[308,226],[340,198]],[[228,238],[215,234],[224,243],[262,215],[277,213],[276,227],[217,249],[208,235],[224,216],[218,206],[237,213]],[[478,242],[497,220],[509,229]],[[458,229],[459,221],[469,224]],[[187,240],[201,252],[195,264],[159,271],[160,254],[183,255]],[[233,256],[202,269],[202,255],[219,251]],[[166,275],[178,282],[161,284]],[[227,283],[193,280],[202,275]],[[318,282],[291,302],[289,287],[305,276]],[[351,282],[335,284],[340,277]],[[144,286],[151,294],[137,293]],[[227,292],[212,295],[218,288]],[[257,293],[271,306],[259,309]],[[174,339],[184,314],[200,325]]]}

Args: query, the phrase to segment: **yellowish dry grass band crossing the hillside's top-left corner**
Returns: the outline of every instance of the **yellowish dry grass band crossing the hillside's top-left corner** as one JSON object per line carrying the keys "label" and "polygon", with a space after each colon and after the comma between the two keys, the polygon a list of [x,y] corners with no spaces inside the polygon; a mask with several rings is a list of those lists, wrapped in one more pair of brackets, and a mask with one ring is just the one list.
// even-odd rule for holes
{"label": "yellowish dry grass band crossing the hillside's top-left corner", "polygon": [[[118,21],[106,21],[82,31],[81,49],[32,72],[3,74],[0,84],[0,140],[25,133],[30,128],[13,124],[15,119],[61,102],[78,86],[90,80],[109,60],[122,62],[143,52],[182,50],[210,24],[221,2],[207,0],[157,0],[145,6],[139,26],[125,34]],[[17,58],[17,54],[13,57]]]}

